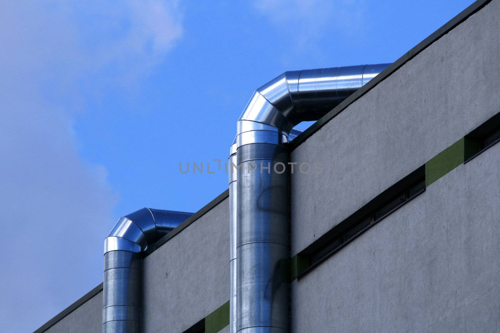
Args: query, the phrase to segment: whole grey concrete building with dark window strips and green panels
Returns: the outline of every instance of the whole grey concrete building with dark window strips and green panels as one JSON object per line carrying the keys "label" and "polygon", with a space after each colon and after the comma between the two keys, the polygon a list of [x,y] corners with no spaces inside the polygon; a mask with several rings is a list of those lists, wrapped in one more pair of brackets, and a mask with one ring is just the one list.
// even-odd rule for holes
{"label": "whole grey concrete building with dark window strips and green panels", "polygon": [[[500,331],[500,0],[290,142],[292,332]],[[332,64],[334,65],[334,64]],[[142,332],[229,332],[223,192],[144,253]],[[102,285],[36,332],[101,332]]]}

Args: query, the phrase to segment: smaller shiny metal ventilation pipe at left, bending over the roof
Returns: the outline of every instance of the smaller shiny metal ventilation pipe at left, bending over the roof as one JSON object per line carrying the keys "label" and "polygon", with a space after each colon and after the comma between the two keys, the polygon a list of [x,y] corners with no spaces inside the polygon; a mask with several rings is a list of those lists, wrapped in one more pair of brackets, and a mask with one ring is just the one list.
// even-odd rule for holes
{"label": "smaller shiny metal ventilation pipe at left, bending over the roof", "polygon": [[139,333],[142,254],[192,213],[142,208],[121,217],[104,240],[103,333]]}

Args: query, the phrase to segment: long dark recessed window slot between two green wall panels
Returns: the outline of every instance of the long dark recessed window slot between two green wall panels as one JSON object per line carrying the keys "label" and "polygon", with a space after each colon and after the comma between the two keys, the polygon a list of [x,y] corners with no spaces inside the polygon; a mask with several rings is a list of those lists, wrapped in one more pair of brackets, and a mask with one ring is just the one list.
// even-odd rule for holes
{"label": "long dark recessed window slot between two green wall panels", "polygon": [[371,226],[425,190],[425,167],[421,166],[299,253],[307,259],[309,267],[298,277],[306,274],[323,260],[333,255]]}

